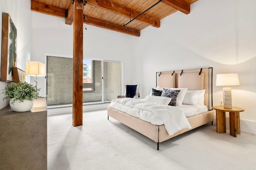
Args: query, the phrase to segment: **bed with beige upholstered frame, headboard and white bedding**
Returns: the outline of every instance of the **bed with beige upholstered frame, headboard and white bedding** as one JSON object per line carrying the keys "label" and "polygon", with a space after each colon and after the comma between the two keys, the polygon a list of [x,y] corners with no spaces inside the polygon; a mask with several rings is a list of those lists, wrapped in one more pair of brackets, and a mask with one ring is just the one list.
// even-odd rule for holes
{"label": "bed with beige upholstered frame, headboard and white bedding", "polygon": [[[172,92],[174,91],[176,92],[178,90],[179,91],[178,97],[180,94],[183,94],[181,96],[185,96],[182,99],[182,103],[180,103],[180,100],[179,101],[177,100],[178,99],[177,97],[174,100],[173,98],[170,100],[170,103],[176,102],[175,107],[170,106],[170,107],[173,107],[174,110],[176,109],[176,111],[178,111],[180,107],[184,106],[185,108],[181,109],[182,112],[186,112],[186,110],[189,112],[190,110],[189,105],[193,107],[193,105],[197,106],[199,105],[199,103],[202,103],[200,104],[202,105],[202,107],[204,106],[204,108],[201,110],[200,110],[201,107],[199,109],[196,109],[196,112],[199,111],[198,113],[196,114],[193,113],[194,115],[189,115],[191,113],[189,112],[188,115],[186,115],[185,119],[189,123],[188,126],[184,126],[186,128],[182,128],[178,131],[177,130],[172,131],[170,133],[170,125],[168,125],[167,123],[161,124],[160,122],[158,122],[154,124],[152,123],[152,121],[142,120],[138,118],[136,115],[135,116],[130,115],[130,113],[129,114],[126,113],[127,111],[119,109],[118,107],[116,108],[112,106],[112,103],[118,103],[118,102],[130,103],[130,102],[133,102],[130,100],[136,100],[138,103],[138,107],[140,107],[140,103],[148,102],[148,100],[145,101],[146,98],[150,98],[150,100],[152,100],[152,98],[156,98],[156,97],[153,97],[156,94],[152,96],[154,92],[158,92],[162,90],[162,92],[164,93],[166,89],[168,90],[172,89],[171,90]],[[185,94],[184,94],[184,89],[186,89]],[[193,101],[194,101],[192,99],[193,97],[190,98],[188,95],[195,92],[204,92],[203,94],[201,93],[201,97],[203,96],[202,98],[199,98],[199,96],[197,96],[197,98],[194,99],[196,100],[196,102],[198,102],[198,104],[193,104]],[[146,96],[146,98],[143,100],[128,99],[128,98],[113,100],[107,109],[108,120],[109,120],[109,117],[112,117],[117,121],[120,121],[124,125],[134,129],[135,131],[138,131],[142,135],[145,135],[146,137],[152,139],[157,143],[157,150],[159,150],[159,143],[166,141],[177,135],[180,135],[182,133],[185,133],[187,131],[190,131],[192,129],[195,129],[196,127],[200,127],[202,125],[210,123],[214,120],[214,112],[211,109],[212,108],[212,68],[198,68],[198,69],[189,69],[189,70],[156,72],[156,88],[152,88],[150,95]],[[186,102],[184,103],[185,99],[186,99]],[[155,107],[159,108],[160,106],[162,106],[161,107],[162,109],[164,109],[165,107],[168,107],[164,105],[159,105],[159,106],[148,105],[147,107],[148,108],[152,107],[151,110],[153,110],[155,109]],[[126,109],[126,110],[134,110],[134,108]],[[140,113],[141,112],[142,111],[140,111]],[[172,112],[175,112],[175,111],[172,111]],[[160,113],[161,115],[161,111],[158,111],[158,113]],[[184,117],[182,117],[182,119],[184,119]],[[174,121],[176,120],[172,120],[172,122]]]}

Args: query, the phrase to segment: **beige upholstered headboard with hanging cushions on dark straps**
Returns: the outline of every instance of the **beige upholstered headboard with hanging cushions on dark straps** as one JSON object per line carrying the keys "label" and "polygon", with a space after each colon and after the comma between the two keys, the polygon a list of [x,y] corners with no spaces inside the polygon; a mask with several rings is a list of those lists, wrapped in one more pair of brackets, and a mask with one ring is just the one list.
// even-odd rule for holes
{"label": "beige upholstered headboard with hanging cushions on dark straps", "polygon": [[212,67],[156,72],[156,86],[204,90],[204,105],[212,109]]}

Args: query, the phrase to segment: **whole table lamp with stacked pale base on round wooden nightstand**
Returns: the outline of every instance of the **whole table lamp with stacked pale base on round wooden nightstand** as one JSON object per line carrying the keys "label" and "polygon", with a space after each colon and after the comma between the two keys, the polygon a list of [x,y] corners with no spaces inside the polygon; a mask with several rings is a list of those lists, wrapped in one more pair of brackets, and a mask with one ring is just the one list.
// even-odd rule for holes
{"label": "whole table lamp with stacked pale base on round wooden nightstand", "polygon": [[238,85],[240,85],[240,82],[237,73],[216,75],[216,86],[226,86],[223,88],[224,108],[232,109],[231,88],[229,88],[228,86]]}

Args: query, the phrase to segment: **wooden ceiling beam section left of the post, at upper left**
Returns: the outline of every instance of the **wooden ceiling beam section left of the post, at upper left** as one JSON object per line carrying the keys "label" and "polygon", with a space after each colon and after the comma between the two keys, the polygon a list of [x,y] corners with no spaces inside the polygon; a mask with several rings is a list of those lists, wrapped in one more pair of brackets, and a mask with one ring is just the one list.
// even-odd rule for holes
{"label": "wooden ceiling beam section left of the post, at upper left", "polygon": [[65,18],[65,9],[31,0],[31,11],[48,14],[51,16]]}

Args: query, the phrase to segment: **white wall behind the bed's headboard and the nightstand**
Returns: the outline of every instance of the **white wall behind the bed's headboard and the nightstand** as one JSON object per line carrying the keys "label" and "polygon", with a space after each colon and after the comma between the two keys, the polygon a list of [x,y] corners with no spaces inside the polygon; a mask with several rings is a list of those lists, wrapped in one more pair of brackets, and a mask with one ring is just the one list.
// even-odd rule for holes
{"label": "white wall behind the bed's headboard and the nightstand", "polygon": [[199,0],[190,14],[176,12],[161,20],[159,29],[144,29],[133,40],[139,61],[134,82],[142,85],[142,98],[156,86],[158,71],[213,67],[213,105],[219,105],[223,87],[215,86],[216,74],[238,73],[233,106],[245,109],[241,131],[256,134],[255,9],[255,0]]}

